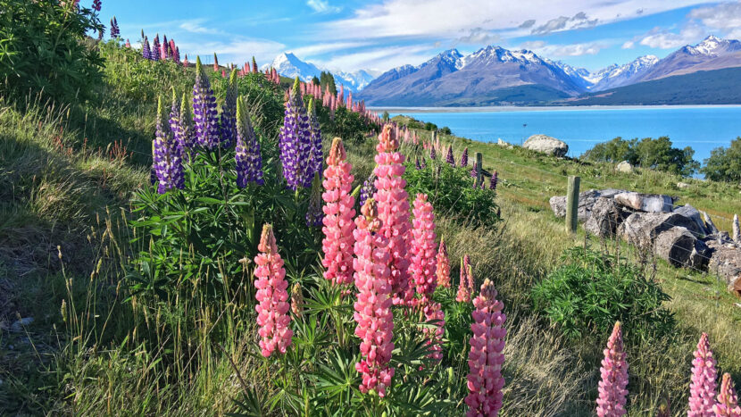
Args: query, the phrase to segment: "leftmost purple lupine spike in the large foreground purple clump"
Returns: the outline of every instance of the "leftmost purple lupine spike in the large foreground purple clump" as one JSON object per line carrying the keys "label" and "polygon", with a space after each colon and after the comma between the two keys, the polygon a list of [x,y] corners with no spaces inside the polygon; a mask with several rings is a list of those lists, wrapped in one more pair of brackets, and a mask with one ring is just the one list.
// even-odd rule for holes
{"label": "leftmost purple lupine spike in the large foreground purple clump", "polygon": [[[173,112],[179,113],[177,109],[173,109]],[[160,97],[157,104],[156,134],[152,143],[152,165],[157,178],[157,192],[160,194],[172,188],[183,188],[185,184],[182,154],[179,152],[172,130],[168,129],[166,117]],[[178,118],[177,114],[175,118]]]}

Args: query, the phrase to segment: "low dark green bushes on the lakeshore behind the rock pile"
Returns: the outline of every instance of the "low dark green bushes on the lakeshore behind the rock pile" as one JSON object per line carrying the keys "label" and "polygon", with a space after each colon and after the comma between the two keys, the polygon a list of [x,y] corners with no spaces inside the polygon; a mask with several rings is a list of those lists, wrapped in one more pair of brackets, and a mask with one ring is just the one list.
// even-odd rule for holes
{"label": "low dark green bushes on the lakeshore behind the rock pile", "polygon": [[687,146],[684,149],[671,146],[668,137],[638,138],[625,140],[614,138],[589,149],[581,155],[582,159],[595,162],[619,163],[628,161],[632,165],[666,171],[682,176],[690,176],[700,168],[700,163],[692,159],[695,150]]}

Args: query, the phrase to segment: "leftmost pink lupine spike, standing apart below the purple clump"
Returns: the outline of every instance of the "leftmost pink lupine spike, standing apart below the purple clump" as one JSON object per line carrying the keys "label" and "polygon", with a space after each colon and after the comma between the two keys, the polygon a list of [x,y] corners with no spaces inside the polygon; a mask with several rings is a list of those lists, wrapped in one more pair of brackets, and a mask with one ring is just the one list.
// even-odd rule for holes
{"label": "leftmost pink lupine spike, standing apart below the purple clump", "polygon": [[255,298],[258,304],[257,324],[260,326],[260,349],[262,356],[269,357],[276,349],[285,354],[291,345],[293,331],[289,329],[291,317],[287,314],[288,308],[288,281],[286,269],[283,268],[283,259],[278,253],[272,226],[262,227],[262,237],[257,246],[260,251],[254,257],[257,267],[254,269],[254,288],[257,288]]}

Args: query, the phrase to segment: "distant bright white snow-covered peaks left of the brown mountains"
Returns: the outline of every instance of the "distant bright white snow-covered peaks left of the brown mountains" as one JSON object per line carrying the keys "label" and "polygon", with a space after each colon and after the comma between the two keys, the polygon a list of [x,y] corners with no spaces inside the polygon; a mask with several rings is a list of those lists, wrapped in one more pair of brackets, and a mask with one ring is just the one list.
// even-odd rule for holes
{"label": "distant bright white snow-covered peaks left of the brown mountains", "polygon": [[[275,68],[278,73],[284,77],[295,78],[296,76],[303,80],[309,81],[312,78],[319,78],[321,71],[329,71],[321,69],[313,63],[307,63],[299,59],[295,54],[290,52],[279,54],[275,57],[272,63],[262,65],[262,70],[267,68]],[[360,91],[362,88],[368,85],[374,78],[367,71],[359,70],[353,72],[343,71],[329,71],[335,77],[335,84],[339,88],[340,84],[349,88],[352,91]]]}

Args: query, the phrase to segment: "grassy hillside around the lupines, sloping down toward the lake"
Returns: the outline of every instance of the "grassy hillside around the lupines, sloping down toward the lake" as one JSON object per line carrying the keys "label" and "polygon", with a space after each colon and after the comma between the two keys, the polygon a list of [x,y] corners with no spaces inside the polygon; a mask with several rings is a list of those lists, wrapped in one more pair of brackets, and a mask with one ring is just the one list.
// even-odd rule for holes
{"label": "grassy hillside around the lupines, sloping down toward the lake", "polygon": [[[141,200],[137,190],[150,188],[156,96],[169,96],[172,87],[191,88],[193,72],[170,63],[151,63],[135,52],[112,46],[104,47],[102,53],[104,84],[96,101],[60,107],[0,99],[0,323],[4,329],[0,337],[0,414],[221,415],[246,413],[254,404],[270,408],[267,396],[273,396],[277,399],[267,414],[295,415],[298,412],[292,404],[305,404],[311,410],[307,414],[315,415],[329,413],[321,408],[321,401],[329,401],[336,392],[347,395],[347,401],[351,394],[343,393],[362,397],[355,388],[354,356],[346,353],[352,350],[343,346],[352,337],[335,333],[335,329],[352,329],[348,313],[352,307],[338,294],[320,297],[331,292],[314,271],[320,268],[317,263],[294,262],[300,256],[316,259],[319,246],[295,254],[283,252],[288,278],[312,288],[306,294],[307,309],[320,312],[316,315],[321,320],[313,325],[296,324],[296,333],[303,339],[313,338],[313,343],[297,346],[303,349],[297,351],[301,354],[287,355],[282,363],[268,362],[255,350],[251,274],[222,274],[221,280],[212,282],[224,287],[221,299],[207,298],[196,293],[196,288],[192,290],[198,296],[189,296],[191,288],[187,288],[178,296],[164,298],[132,290],[132,272],[141,271],[132,262],[152,252],[150,238],[156,237],[143,234],[147,225],[129,222],[141,215],[131,212],[132,204]],[[211,71],[209,76],[216,95],[223,97],[226,80]],[[255,129],[264,139],[263,152],[276,154],[282,89],[254,74],[240,79],[239,94],[250,99]],[[346,138],[354,187],[360,186],[375,164],[376,141],[367,138],[367,127],[329,121],[325,110],[320,115],[324,149],[329,148],[331,135]],[[479,281],[492,279],[504,301],[508,336],[503,415],[589,415],[594,409],[606,335],[566,338],[535,312],[530,297],[530,289],[564,262],[563,250],[585,245],[581,232],[577,236],[563,233],[563,222],[550,212],[547,199],[565,193],[566,175],[579,174],[584,188],[618,187],[680,196],[679,204],[704,209],[716,216],[721,229],[729,229],[724,218],[741,213],[739,189],[654,171],[622,174],[609,165],[556,160],[464,138],[443,140],[453,145],[456,156],[464,147],[471,157],[481,152],[484,168],[500,174],[495,201],[502,209],[503,222],[474,228],[462,225],[458,213],[438,212],[436,223],[438,236],[445,237],[448,246],[452,275],[459,273],[457,260],[470,254],[473,275]],[[419,153],[411,148],[404,151]],[[266,156],[266,161],[275,160]],[[273,163],[270,170],[277,165]],[[678,188],[679,180],[689,187]],[[211,201],[203,199],[196,210],[205,210]],[[273,203],[285,202],[281,195]],[[258,215],[273,216],[275,222],[286,216],[263,212]],[[624,251],[634,262],[638,259],[628,248],[610,242],[587,243]],[[281,242],[280,249],[284,247]],[[689,363],[700,332],[710,334],[722,371],[741,382],[741,359],[737,357],[741,309],[710,276],[661,262],[645,266],[649,271],[655,268],[654,278],[672,297],[668,306],[678,325],[671,337],[634,339],[627,345],[629,414],[653,414],[669,398],[672,413],[681,415],[686,413]],[[242,279],[242,285],[230,287],[225,276]],[[448,298],[443,301],[449,313],[448,328],[461,333],[450,333],[443,364],[424,383],[446,381],[447,391],[440,396],[447,401],[428,406],[445,407],[454,410],[451,415],[459,415],[466,407],[462,398],[467,389],[470,313],[460,307],[467,314],[456,316],[459,307]],[[20,331],[9,330],[19,317],[34,321]],[[410,346],[402,345],[408,343],[403,340],[396,342]],[[316,368],[331,373],[335,368],[328,358],[336,358],[346,372],[329,375],[331,383],[323,382],[326,385],[319,391],[310,390],[317,381],[301,375],[318,375],[312,361],[320,360],[327,362],[320,362],[324,368]],[[419,363],[406,368],[416,370]],[[395,378],[401,379],[406,368],[399,364]],[[287,370],[298,376],[285,377]],[[311,401],[297,396],[293,390],[297,380],[306,384],[302,393],[321,395]],[[425,395],[420,393],[420,397]],[[246,405],[237,406],[234,399]]]}

